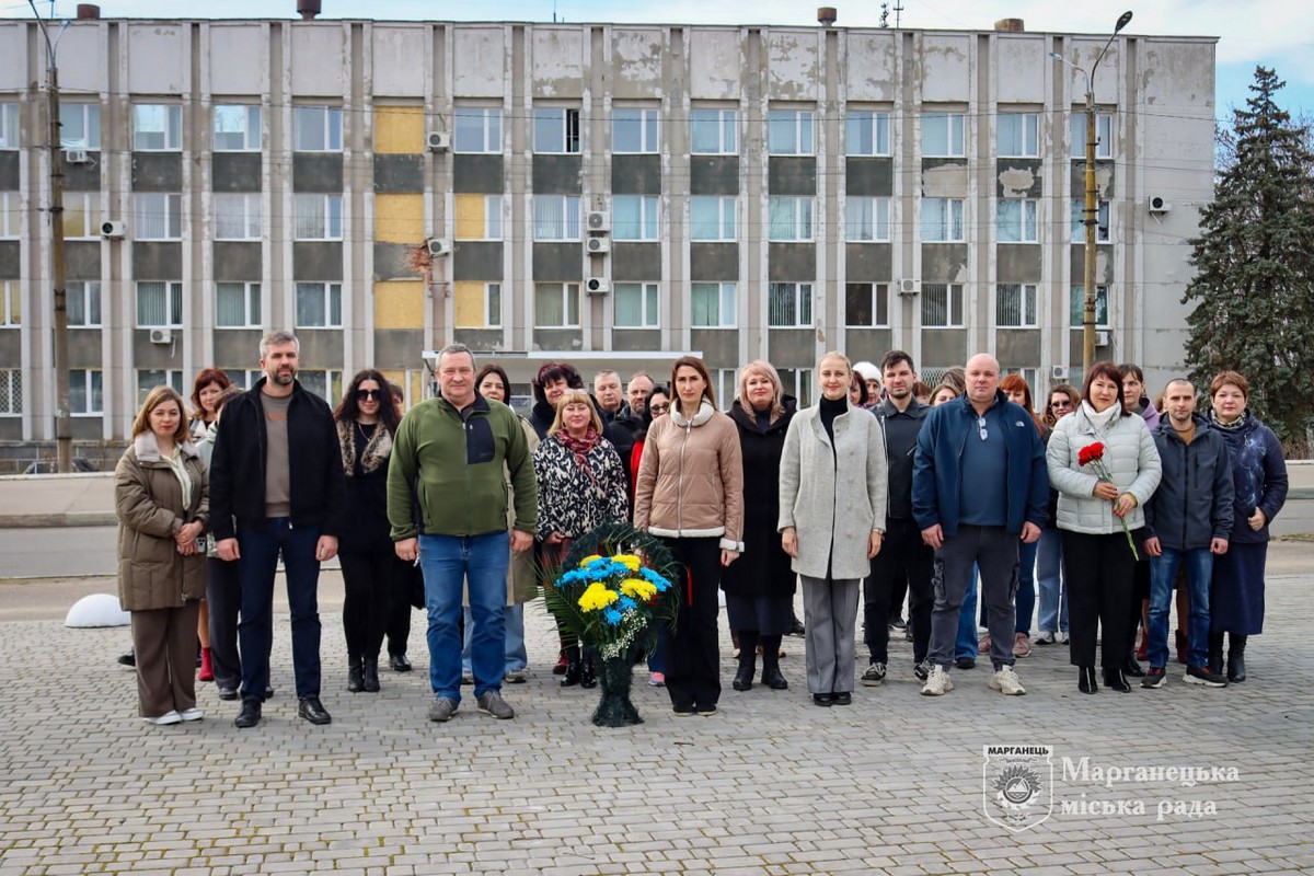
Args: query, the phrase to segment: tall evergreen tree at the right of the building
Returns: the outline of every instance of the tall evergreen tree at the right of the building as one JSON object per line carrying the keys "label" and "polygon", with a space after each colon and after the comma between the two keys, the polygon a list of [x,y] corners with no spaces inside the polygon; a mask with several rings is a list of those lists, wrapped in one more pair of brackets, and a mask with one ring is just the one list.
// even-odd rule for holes
{"label": "tall evergreen tree at the right of the building", "polygon": [[1187,362],[1200,386],[1240,372],[1250,405],[1284,440],[1314,424],[1314,152],[1310,130],[1275,96],[1285,83],[1255,68],[1246,109],[1233,110],[1230,162],[1190,242],[1197,273]]}

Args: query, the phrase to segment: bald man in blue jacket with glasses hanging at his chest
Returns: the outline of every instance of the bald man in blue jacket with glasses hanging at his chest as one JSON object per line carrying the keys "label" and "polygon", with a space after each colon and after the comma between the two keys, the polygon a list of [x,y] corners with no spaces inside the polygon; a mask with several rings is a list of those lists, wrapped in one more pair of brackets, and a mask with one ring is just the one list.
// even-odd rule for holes
{"label": "bald man in blue jacket with glasses hanging at his chest", "polygon": [[936,552],[930,672],[921,688],[926,696],[954,687],[949,665],[974,565],[991,628],[989,687],[1009,696],[1026,693],[1013,672],[1017,545],[1041,537],[1049,519],[1049,475],[1031,415],[1008,401],[999,380],[993,356],[972,356],[967,391],[932,408],[917,435],[912,514]]}

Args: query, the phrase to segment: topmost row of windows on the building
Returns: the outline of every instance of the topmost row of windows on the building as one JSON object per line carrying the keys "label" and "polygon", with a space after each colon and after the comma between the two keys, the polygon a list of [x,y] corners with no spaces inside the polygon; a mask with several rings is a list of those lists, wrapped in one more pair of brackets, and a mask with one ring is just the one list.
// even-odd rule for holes
{"label": "topmost row of windows on the building", "polygon": [[[99,104],[60,105],[60,142],[64,148],[101,147]],[[581,151],[579,113],[569,106],[535,106],[533,151],[572,155]],[[261,108],[248,104],[215,104],[212,112],[212,148],[215,152],[260,151]],[[1072,158],[1085,156],[1085,114],[1071,117]],[[1096,155],[1113,158],[1113,116],[1097,117]],[[465,154],[501,154],[505,148],[503,110],[499,106],[457,106],[453,112],[452,147]],[[293,106],[292,148],[297,152],[340,152],[342,108]],[[848,110],[844,118],[845,154],[851,156],[894,155],[891,116],[880,110]],[[738,155],[740,130],[736,109],[694,109],[689,118],[690,152]],[[773,109],[766,118],[770,155],[815,155],[816,113],[811,109]],[[0,148],[18,148],[18,104],[0,104]],[[999,158],[1039,158],[1041,114],[1000,112],[996,117]],[[183,150],[183,106],[179,104],[133,105],[133,150],[177,152]],[[612,154],[661,151],[661,118],[657,109],[611,110]],[[924,112],[921,155],[963,158],[967,155],[964,113]]]}

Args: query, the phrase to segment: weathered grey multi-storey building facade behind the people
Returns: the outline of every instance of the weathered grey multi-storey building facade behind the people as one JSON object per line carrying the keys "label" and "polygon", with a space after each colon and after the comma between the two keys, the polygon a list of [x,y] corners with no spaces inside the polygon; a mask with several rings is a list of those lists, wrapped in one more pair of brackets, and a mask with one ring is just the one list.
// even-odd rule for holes
{"label": "weathered grey multi-storey building facade behind the people", "polygon": [[[76,437],[256,376],[336,399],[459,340],[665,373],[899,347],[1081,360],[1085,83],[1105,37],[836,28],[79,21],[58,50]],[[1118,37],[1097,104],[1097,356],[1180,362],[1214,39]],[[0,24],[0,439],[54,435],[45,43]],[[1156,198],[1151,204],[1151,198]],[[1064,370],[1068,369],[1068,370]]]}

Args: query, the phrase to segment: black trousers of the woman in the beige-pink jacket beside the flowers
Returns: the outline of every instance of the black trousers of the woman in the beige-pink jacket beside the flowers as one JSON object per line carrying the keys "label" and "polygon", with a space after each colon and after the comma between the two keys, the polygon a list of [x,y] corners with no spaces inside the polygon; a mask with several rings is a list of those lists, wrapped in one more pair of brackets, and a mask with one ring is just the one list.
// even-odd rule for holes
{"label": "black trousers of the woman in the beige-pink jacket beside the flowers", "polygon": [[662,538],[686,573],[681,588],[675,634],[666,649],[666,691],[671,705],[716,705],[721,699],[719,613],[716,591],[721,582],[720,538]]}

